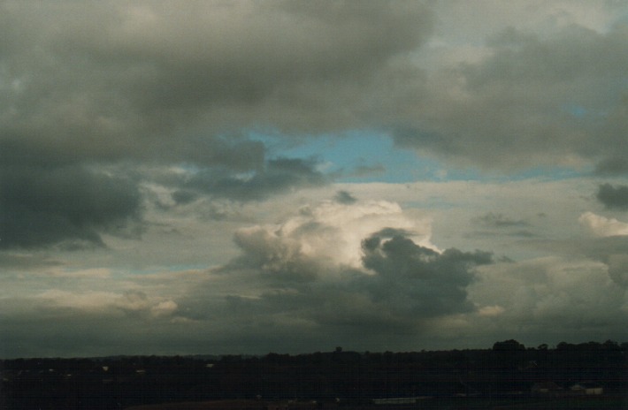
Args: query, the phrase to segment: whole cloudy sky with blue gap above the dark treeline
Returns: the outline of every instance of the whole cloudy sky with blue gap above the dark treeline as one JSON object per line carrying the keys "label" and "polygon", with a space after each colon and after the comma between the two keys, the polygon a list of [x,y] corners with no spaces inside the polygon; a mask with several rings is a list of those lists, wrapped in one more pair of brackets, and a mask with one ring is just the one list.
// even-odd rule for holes
{"label": "whole cloudy sky with blue gap above the dark treeline", "polygon": [[0,1],[0,357],[628,341],[621,0]]}

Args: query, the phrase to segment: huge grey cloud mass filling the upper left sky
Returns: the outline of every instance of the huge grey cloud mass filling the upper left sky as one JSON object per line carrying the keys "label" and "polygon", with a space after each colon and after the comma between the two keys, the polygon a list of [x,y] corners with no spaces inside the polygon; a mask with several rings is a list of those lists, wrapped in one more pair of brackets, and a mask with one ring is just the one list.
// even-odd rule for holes
{"label": "huge grey cloud mass filling the upper left sky", "polygon": [[228,166],[228,130],[355,125],[347,107],[432,27],[418,2],[7,4],[0,103],[15,140],[60,158]]}

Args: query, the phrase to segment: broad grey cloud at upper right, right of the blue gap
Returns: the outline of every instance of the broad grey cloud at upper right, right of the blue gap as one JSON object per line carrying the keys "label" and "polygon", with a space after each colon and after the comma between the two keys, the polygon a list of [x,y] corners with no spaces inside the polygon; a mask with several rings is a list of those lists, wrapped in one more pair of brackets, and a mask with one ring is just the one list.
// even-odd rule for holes
{"label": "broad grey cloud at upper right, right of the blue gap", "polygon": [[626,149],[626,39],[622,25],[494,34],[489,57],[433,75],[433,88],[410,82],[425,95],[412,103],[418,119],[392,134],[402,147],[485,169],[617,158]]}

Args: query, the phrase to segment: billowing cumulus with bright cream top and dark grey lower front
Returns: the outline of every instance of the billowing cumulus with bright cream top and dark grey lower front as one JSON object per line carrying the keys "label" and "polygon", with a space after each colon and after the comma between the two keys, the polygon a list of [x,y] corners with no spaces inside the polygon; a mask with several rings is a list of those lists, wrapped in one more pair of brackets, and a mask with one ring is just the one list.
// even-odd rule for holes
{"label": "billowing cumulus with bright cream top and dark grey lower front", "polygon": [[493,262],[485,252],[419,245],[429,232],[392,203],[324,201],[282,224],[237,232],[242,254],[216,274],[249,284],[227,299],[245,322],[263,317],[282,332],[297,321],[298,331],[343,337],[411,334],[427,319],[474,310],[465,289],[475,267]]}

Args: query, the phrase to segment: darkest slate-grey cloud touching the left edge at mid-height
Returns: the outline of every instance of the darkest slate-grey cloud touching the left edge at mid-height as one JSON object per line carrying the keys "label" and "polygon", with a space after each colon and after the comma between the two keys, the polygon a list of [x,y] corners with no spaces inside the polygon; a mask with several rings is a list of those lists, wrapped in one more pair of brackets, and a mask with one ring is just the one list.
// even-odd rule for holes
{"label": "darkest slate-grey cloud touching the left edge at mid-height", "polygon": [[0,166],[0,247],[38,247],[78,240],[102,246],[99,232],[140,216],[134,181],[64,167]]}

